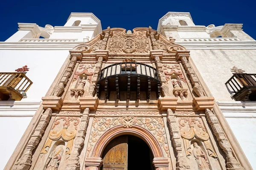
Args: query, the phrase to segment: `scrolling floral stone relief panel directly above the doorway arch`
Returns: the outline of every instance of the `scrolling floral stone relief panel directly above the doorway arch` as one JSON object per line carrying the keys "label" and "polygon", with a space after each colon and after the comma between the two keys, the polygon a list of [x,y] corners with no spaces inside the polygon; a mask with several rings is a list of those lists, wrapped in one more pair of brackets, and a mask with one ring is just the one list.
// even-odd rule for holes
{"label": "scrolling floral stone relief panel directly above the doorway arch", "polygon": [[169,156],[169,147],[166,139],[166,132],[164,129],[163,118],[141,118],[136,116],[120,116],[120,117],[95,117],[93,119],[93,129],[90,133],[90,139],[87,146],[87,157],[90,156],[90,151],[94,147],[94,144],[102,136],[102,134],[108,129],[117,125],[123,125],[126,128],[132,128],[133,125],[139,125],[148,131],[150,131],[163,150]]}

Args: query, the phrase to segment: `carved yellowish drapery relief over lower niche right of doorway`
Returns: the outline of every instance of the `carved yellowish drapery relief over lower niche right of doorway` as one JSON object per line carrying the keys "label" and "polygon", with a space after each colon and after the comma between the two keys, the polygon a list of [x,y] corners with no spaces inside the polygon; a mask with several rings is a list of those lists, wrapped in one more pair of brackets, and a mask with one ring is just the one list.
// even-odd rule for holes
{"label": "carved yellowish drapery relief over lower niche right of doorway", "polygon": [[204,145],[208,151],[209,156],[217,159],[217,155],[213,150],[210,141],[209,134],[206,132],[204,125],[198,117],[181,117],[178,119],[180,135],[183,138],[183,143],[186,151],[186,156],[192,155],[191,139],[198,139],[204,142]]}

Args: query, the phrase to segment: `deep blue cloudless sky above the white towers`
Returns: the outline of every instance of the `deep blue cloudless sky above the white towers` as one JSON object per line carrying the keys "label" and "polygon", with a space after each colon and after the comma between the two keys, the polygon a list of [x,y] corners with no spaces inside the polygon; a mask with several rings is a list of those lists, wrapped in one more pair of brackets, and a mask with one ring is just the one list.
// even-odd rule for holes
{"label": "deep blue cloudless sky above the white towers", "polygon": [[63,26],[71,12],[92,12],[101,20],[102,29],[132,30],[148,26],[157,29],[158,20],[168,11],[190,12],[195,25],[201,26],[243,23],[244,31],[256,39],[255,8],[253,0],[2,0],[0,41],[17,31],[17,23]]}

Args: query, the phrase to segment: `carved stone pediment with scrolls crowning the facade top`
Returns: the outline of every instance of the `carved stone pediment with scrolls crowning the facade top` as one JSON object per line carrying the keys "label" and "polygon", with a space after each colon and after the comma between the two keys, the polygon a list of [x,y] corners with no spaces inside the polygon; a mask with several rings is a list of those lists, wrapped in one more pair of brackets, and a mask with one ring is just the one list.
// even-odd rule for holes
{"label": "carved stone pediment with scrolls crowning the facade top", "polygon": [[124,28],[108,27],[83,45],[90,46],[87,53],[108,50],[109,54],[149,54],[151,50],[163,50],[163,54],[168,54],[176,53],[177,50],[186,50],[183,46],[167,40],[151,27],[134,28],[132,33]]}

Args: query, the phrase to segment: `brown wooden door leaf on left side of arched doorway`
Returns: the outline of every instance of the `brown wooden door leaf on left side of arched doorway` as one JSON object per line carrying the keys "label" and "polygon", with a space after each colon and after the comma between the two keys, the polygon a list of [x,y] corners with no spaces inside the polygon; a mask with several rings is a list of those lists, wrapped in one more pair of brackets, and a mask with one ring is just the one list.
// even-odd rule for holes
{"label": "brown wooden door leaf on left side of arched doorway", "polygon": [[113,139],[104,149],[102,170],[127,170],[128,136]]}

